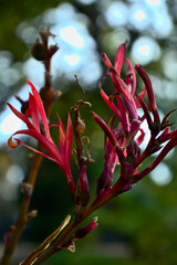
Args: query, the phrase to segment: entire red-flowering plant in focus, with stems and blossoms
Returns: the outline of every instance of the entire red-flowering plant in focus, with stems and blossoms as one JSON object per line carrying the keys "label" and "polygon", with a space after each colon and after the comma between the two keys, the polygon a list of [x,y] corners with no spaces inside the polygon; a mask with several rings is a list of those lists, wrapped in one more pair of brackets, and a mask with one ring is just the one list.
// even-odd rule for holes
{"label": "entire red-flowering plant in focus, with stems and blossoms", "polygon": [[[21,140],[13,138],[19,134],[28,135],[35,138],[39,141],[39,149],[34,149],[27,145],[24,147],[35,151],[37,158],[33,160],[31,168],[31,173],[27,183],[23,183],[23,202],[20,211],[19,220],[14,231],[12,230],[12,236],[7,242],[7,258],[8,251],[12,252],[12,247],[15,246],[20,234],[22,233],[27,222],[28,222],[28,211],[31,201],[32,190],[35,183],[37,172],[39,170],[42,159],[45,157],[55,163],[58,163],[63,170],[73,200],[73,212],[74,221],[62,232],[61,227],[54,231],[46,240],[37,248],[34,252],[24,259],[21,265],[33,265],[42,264],[51,255],[60,252],[61,250],[67,250],[71,252],[75,251],[75,241],[83,239],[90,234],[97,226],[97,219],[93,219],[87,225],[79,227],[82,222],[86,220],[91,213],[95,212],[97,209],[103,206],[105,203],[111,201],[113,198],[117,198],[123,192],[131,190],[134,183],[145,178],[150,173],[160,161],[167,156],[167,153],[177,146],[177,130],[171,131],[169,117],[171,112],[169,112],[163,120],[159,118],[157,110],[156,98],[153,89],[153,84],[147,72],[140,65],[136,65],[135,68],[137,74],[143,80],[145,87],[136,95],[136,74],[132,63],[125,57],[126,43],[125,41],[117,49],[115,55],[114,66],[106,56],[102,54],[102,59],[106,66],[108,67],[108,75],[114,84],[114,92],[108,96],[101,87],[101,95],[112,110],[113,115],[105,123],[101,116],[92,112],[95,123],[101,127],[105,135],[104,141],[104,165],[101,176],[97,178],[97,186],[95,189],[95,199],[90,203],[90,186],[87,179],[87,166],[91,159],[90,151],[87,150],[87,156],[84,153],[83,138],[87,138],[82,134],[85,131],[85,121],[81,116],[81,107],[85,102],[85,92],[82,88],[79,80],[76,77],[77,85],[83,89],[84,99],[77,102],[76,105],[72,107],[75,112],[74,125],[72,126],[72,120],[70,114],[67,114],[66,129],[64,129],[63,124],[58,116],[59,128],[59,142],[60,149],[54,145],[51,135],[50,127],[48,125],[48,117],[53,100],[53,88],[51,88],[50,78],[50,59],[51,54],[54,53],[56,49],[48,47],[49,32],[41,32],[42,42],[38,41],[38,49],[43,49],[46,54],[45,65],[45,100],[44,106],[37,92],[34,85],[27,81],[31,86],[32,93],[29,96],[29,106],[24,114],[18,112],[13,106],[9,104],[11,110],[27,125],[28,129],[19,130],[14,132],[8,144],[9,147],[15,148],[21,144]],[[42,46],[41,46],[42,44]],[[42,59],[42,51],[38,60]],[[127,65],[127,72],[125,80],[122,78],[122,67],[124,62]],[[104,75],[105,78],[105,75]],[[146,104],[144,97],[147,94],[148,103]],[[114,103],[114,98],[116,103]],[[144,114],[142,117],[138,116],[138,108],[142,108]],[[40,118],[44,127],[44,131],[40,127]],[[146,120],[148,124],[148,129],[150,132],[150,139],[144,150],[142,150],[142,142],[146,131],[144,131],[143,121]],[[72,170],[70,166],[73,135],[75,139],[75,155],[76,155],[76,166],[77,166],[77,178],[74,180],[72,176]],[[88,139],[88,138],[87,138]],[[15,140],[15,141],[14,141]],[[164,146],[165,144],[165,146]],[[48,152],[45,153],[44,150]],[[159,153],[157,157],[148,165],[145,169],[140,169],[142,163],[152,153]],[[40,159],[39,159],[40,158]],[[116,167],[119,167],[119,178],[114,180],[114,172]],[[35,215],[33,213],[32,215]],[[67,221],[64,222],[67,224]],[[13,242],[13,243],[11,243]],[[10,247],[9,247],[10,246]],[[11,255],[11,254],[10,254]],[[8,265],[8,262],[2,262],[1,265]]]}

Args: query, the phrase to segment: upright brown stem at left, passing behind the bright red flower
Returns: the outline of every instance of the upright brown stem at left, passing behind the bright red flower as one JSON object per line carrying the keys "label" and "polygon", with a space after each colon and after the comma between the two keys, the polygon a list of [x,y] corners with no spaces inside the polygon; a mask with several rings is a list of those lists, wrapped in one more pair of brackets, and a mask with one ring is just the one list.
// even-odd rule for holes
{"label": "upright brown stem at left, passing behind the bright red flower", "polygon": [[[46,117],[49,117],[50,110],[52,107],[52,103],[53,103],[53,88],[52,88],[52,84],[51,84],[51,73],[50,73],[51,72],[51,56],[50,56],[50,50],[49,50],[49,45],[48,45],[48,39],[45,39],[43,44],[44,44],[44,53],[45,53],[45,60],[44,60],[44,67],[45,67],[44,108],[45,108]],[[38,144],[37,149],[39,151],[42,151],[42,146],[40,144]],[[29,176],[25,181],[25,183],[30,186],[31,191],[33,191],[41,162],[42,162],[42,156],[39,153],[34,153],[34,157],[33,157],[33,160],[32,160],[32,163],[30,167]],[[18,215],[18,220],[14,225],[15,229],[14,229],[9,242],[4,245],[4,252],[3,252],[0,265],[9,265],[10,264],[14,248],[23,233],[23,230],[25,229],[28,221],[29,221],[28,213],[29,213],[31,197],[32,197],[32,192],[30,195],[27,195],[24,192],[23,199],[22,199],[22,204],[21,204],[19,215]]]}

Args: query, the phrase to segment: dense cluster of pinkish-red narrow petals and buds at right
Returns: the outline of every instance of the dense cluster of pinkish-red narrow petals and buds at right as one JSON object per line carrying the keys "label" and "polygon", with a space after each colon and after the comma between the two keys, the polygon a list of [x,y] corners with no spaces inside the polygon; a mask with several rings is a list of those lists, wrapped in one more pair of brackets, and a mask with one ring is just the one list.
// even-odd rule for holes
{"label": "dense cluster of pinkish-red narrow petals and buds at right", "polygon": [[[105,145],[105,161],[101,177],[97,180],[97,198],[101,198],[106,192],[112,193],[112,188],[115,192],[115,187],[118,184],[113,183],[113,171],[115,165],[121,166],[121,178],[124,179],[124,187],[117,190],[117,194],[129,190],[132,184],[139,181],[154,170],[165,156],[177,145],[177,130],[170,131],[169,112],[160,121],[159,114],[157,112],[157,105],[153,85],[147,72],[140,65],[135,65],[135,68],[143,80],[145,87],[138,95],[135,95],[136,89],[136,75],[132,63],[125,57],[126,42],[121,44],[117,49],[114,66],[111,61],[103,54],[103,61],[108,67],[108,73],[114,84],[114,93],[107,96],[101,88],[101,95],[106,105],[112,109],[114,116],[118,118],[118,125],[115,124],[115,119],[111,125],[107,125],[98,115],[93,113],[95,121],[101,126],[106,135],[106,141],[110,142],[110,147]],[[128,70],[125,81],[121,78],[121,71],[123,63],[127,64]],[[148,105],[144,102],[144,97],[147,93]],[[114,96],[116,97],[116,104],[113,103]],[[137,109],[142,107],[144,115],[139,117]],[[150,115],[152,114],[152,115]],[[150,130],[150,139],[144,151],[140,150],[139,145],[144,140],[145,132],[143,128],[139,128],[142,123],[146,120]],[[116,125],[116,126],[114,126]],[[115,128],[114,128],[115,127]],[[137,131],[140,132],[136,137]],[[165,147],[163,144],[167,142]],[[142,162],[152,153],[162,149],[159,155],[154,161],[143,171],[139,171]],[[111,153],[117,153],[117,158],[111,158]],[[117,180],[118,183],[119,179]]]}

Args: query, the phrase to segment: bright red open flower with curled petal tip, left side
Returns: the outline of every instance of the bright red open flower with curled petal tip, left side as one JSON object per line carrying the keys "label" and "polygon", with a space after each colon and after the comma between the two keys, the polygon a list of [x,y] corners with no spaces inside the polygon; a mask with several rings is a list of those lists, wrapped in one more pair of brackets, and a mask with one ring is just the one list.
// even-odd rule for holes
{"label": "bright red open flower with curled petal tip, left side", "polygon": [[[32,93],[29,94],[29,108],[27,109],[25,114],[21,114],[11,104],[7,103],[10,109],[18,116],[28,127],[28,129],[18,130],[14,132],[8,140],[8,146],[10,148],[17,148],[19,145],[23,145],[24,147],[31,149],[34,152],[46,157],[48,159],[56,162],[65,173],[71,193],[74,194],[75,192],[75,184],[72,178],[71,168],[70,168],[70,156],[72,150],[72,121],[70,114],[67,115],[67,125],[66,131],[64,130],[63,124],[58,116],[59,124],[59,139],[60,139],[60,150],[54,145],[51,135],[50,135],[50,127],[48,125],[48,118],[45,115],[45,110],[41,100],[41,97],[35,89],[34,85],[27,80],[27,83],[31,86]],[[41,120],[40,120],[41,119]],[[43,126],[43,129],[41,128]],[[35,138],[43,149],[48,152],[45,155],[42,151],[39,151],[30,146],[27,146],[21,142],[19,138],[13,138],[17,135],[28,135]],[[13,141],[15,140],[15,142]]]}

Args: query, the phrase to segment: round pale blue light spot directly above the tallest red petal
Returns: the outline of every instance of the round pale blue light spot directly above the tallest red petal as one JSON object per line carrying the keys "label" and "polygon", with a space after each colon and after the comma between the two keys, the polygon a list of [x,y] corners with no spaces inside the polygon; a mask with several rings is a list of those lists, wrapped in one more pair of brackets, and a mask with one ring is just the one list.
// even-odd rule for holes
{"label": "round pale blue light spot directly above the tallest red petal", "polygon": [[124,25],[127,22],[128,9],[126,4],[114,2],[105,10],[104,15],[111,26]]}

